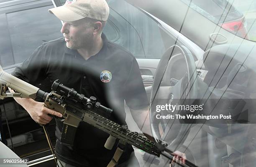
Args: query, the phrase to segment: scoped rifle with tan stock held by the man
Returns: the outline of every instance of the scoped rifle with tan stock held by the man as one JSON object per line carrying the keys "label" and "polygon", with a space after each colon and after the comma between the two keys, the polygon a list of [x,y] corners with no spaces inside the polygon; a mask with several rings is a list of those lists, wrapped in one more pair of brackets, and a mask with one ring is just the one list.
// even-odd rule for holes
{"label": "scoped rifle with tan stock held by the man", "polygon": [[[2,70],[0,67],[0,99],[7,97],[22,97],[32,98],[41,97],[44,99],[45,107],[60,112],[63,117],[61,121],[64,124],[61,134],[61,142],[66,145],[72,145],[74,135],[79,126],[79,123],[84,121],[104,132],[110,134],[110,137],[105,143],[105,147],[109,150],[118,139],[122,145],[133,145],[149,154],[160,156],[164,155],[169,160],[173,159],[172,151],[168,150],[166,144],[161,141],[151,141],[146,137],[139,135],[137,132],[131,132],[125,125],[108,120],[107,118],[95,113],[111,114],[112,110],[100,105],[95,97],[87,98],[83,94],[77,93],[72,88],[66,87],[56,80],[50,93],[40,90],[27,82],[20,80]],[[15,93],[6,92],[7,87],[15,90]],[[159,150],[160,148],[160,150]],[[165,153],[167,152],[168,155]],[[186,160],[185,164],[180,164],[182,167],[197,167]]]}

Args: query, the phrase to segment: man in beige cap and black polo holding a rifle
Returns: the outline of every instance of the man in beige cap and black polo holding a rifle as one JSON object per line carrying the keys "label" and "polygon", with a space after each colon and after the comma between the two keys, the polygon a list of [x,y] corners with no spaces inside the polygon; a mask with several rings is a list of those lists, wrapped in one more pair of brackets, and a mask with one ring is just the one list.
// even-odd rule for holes
{"label": "man in beige cap and black polo holding a rifle", "polygon": [[[102,105],[113,108],[110,120],[125,124],[124,100],[136,122],[148,110],[148,101],[143,87],[138,63],[130,52],[107,40],[102,29],[108,19],[109,7],[105,0],[67,0],[57,8],[50,9],[60,20],[63,38],[45,42],[31,57],[12,73],[44,91],[50,91],[54,80],[72,87],[87,97],[95,96]],[[53,114],[59,112],[44,107],[44,103],[32,99],[15,100],[40,124],[47,124]],[[60,142],[63,123],[56,120],[56,156],[59,163],[77,167],[106,167],[114,155],[104,147],[108,134],[81,122],[74,146]],[[141,125],[139,125],[141,127]],[[120,158],[120,166],[133,151],[126,147]],[[135,165],[133,165],[135,167]],[[138,166],[138,163],[137,165]]]}

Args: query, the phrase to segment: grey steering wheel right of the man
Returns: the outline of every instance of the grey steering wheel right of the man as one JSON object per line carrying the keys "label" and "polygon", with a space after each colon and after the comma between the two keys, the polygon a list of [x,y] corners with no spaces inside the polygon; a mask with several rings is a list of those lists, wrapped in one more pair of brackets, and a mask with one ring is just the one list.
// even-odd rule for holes
{"label": "grey steering wheel right of the man", "polygon": [[[180,71],[174,71],[174,66],[179,65],[177,63],[180,62],[183,62],[182,64],[185,64],[186,67],[179,68]],[[190,124],[181,124],[176,117],[174,119],[157,119],[156,115],[170,114],[175,116],[178,112],[170,112],[170,110],[157,112],[156,105],[184,104],[183,99],[196,99],[197,85],[197,71],[192,53],[185,46],[173,45],[169,47],[156,69],[151,90],[151,132],[156,141],[164,140],[173,149],[177,149],[184,142]],[[163,127],[164,133],[162,136],[159,125]]]}

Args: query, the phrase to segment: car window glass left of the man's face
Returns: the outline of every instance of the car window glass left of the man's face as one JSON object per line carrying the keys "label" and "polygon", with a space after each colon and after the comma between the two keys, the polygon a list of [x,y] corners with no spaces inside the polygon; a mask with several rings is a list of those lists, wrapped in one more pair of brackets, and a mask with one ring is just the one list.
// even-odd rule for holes
{"label": "car window glass left of the man's face", "polygon": [[[6,15],[14,63],[23,62],[43,42],[61,37],[61,22],[48,12],[53,6]],[[5,66],[3,64],[3,66]]]}

